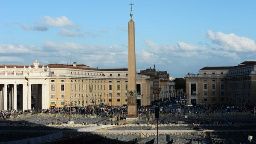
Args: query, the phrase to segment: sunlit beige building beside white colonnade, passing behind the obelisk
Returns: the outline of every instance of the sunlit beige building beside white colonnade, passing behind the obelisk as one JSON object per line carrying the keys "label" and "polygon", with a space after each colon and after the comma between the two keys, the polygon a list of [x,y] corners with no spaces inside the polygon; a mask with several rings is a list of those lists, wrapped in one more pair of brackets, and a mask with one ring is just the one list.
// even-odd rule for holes
{"label": "sunlit beige building beside white colonnade, passing behind the obelisk", "polygon": [[[73,104],[87,106],[95,104],[126,105],[128,90],[127,68],[96,69],[84,65],[48,65],[49,102],[62,107]],[[150,77],[137,75],[137,104],[150,104]]]}

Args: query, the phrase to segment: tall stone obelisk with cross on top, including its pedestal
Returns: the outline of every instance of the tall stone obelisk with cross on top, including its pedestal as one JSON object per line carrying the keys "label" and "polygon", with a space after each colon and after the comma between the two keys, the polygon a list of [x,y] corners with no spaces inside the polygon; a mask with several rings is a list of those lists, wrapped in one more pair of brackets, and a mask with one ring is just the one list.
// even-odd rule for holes
{"label": "tall stone obelisk with cross on top, including its pedestal", "polygon": [[126,120],[137,119],[137,90],[136,90],[136,55],[135,55],[135,30],[132,20],[128,23],[128,115]]}

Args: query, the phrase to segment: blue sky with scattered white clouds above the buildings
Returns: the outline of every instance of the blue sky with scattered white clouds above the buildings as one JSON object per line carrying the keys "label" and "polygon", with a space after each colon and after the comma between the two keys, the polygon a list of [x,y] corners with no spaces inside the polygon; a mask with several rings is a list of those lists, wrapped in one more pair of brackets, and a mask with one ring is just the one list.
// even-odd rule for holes
{"label": "blue sky with scattered white clouds above the buildings", "polygon": [[[0,65],[127,68],[130,0],[5,0]],[[256,61],[254,0],[133,0],[137,71],[172,77]]]}

